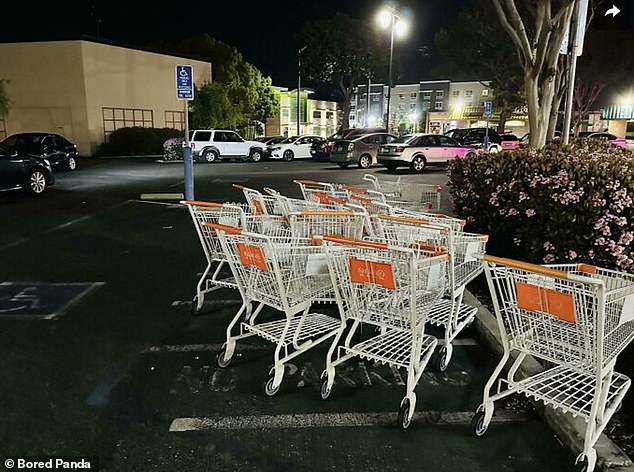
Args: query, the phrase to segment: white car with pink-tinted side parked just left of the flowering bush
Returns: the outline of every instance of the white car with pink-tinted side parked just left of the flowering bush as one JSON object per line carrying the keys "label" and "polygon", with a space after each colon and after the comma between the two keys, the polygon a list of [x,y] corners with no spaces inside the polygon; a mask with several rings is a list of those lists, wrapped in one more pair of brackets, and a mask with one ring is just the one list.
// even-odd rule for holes
{"label": "white car with pink-tinted side parked just left of the flowering bush", "polygon": [[408,166],[415,172],[422,172],[428,165],[445,164],[450,159],[477,153],[476,148],[463,146],[448,136],[417,133],[381,146],[377,160],[389,170]]}

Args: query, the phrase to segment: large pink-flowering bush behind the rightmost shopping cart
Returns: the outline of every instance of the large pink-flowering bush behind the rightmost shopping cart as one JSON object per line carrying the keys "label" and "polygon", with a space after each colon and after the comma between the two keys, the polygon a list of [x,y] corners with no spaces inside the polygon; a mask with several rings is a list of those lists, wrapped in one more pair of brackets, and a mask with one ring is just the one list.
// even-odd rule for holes
{"label": "large pink-flowering bush behind the rightmost shopping cart", "polygon": [[455,159],[455,212],[491,252],[632,271],[634,153],[598,140]]}

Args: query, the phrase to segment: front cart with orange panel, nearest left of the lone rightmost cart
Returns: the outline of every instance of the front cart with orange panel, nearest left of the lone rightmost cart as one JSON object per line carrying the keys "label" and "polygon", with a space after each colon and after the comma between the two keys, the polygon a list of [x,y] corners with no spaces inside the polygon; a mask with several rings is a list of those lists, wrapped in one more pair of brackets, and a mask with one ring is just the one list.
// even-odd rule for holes
{"label": "front cart with orange panel, nearest left of the lone rightmost cart", "polygon": [[[407,386],[398,424],[405,429],[416,407],[414,388],[437,344],[425,334],[425,321],[443,293],[447,257],[370,241],[324,237],[323,242],[341,323],[326,356],[321,397],[330,396],[336,367],[352,357],[402,367]],[[339,345],[348,320],[352,325]],[[380,329],[353,343],[362,324]]]}

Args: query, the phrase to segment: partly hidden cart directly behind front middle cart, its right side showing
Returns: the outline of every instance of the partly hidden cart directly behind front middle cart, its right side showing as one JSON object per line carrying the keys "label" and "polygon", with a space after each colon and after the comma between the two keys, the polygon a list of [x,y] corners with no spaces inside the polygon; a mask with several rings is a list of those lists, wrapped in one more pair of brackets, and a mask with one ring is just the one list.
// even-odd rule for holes
{"label": "partly hidden cart directly behind front middle cart, its right side showing", "polygon": [[[444,221],[440,219],[440,221]],[[482,273],[479,255],[486,252],[488,236],[457,232],[439,220],[378,215],[373,218],[377,237],[399,246],[423,245],[426,249],[443,246],[449,253],[444,296],[431,308],[428,322],[441,327],[444,343],[439,350],[438,369],[444,372],[453,354],[453,341],[474,320],[477,308],[462,303],[469,282]]]}

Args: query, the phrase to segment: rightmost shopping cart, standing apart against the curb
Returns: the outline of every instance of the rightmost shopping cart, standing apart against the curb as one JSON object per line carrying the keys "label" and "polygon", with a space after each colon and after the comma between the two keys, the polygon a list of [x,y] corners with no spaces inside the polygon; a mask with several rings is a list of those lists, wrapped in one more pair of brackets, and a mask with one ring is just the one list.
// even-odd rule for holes
{"label": "rightmost shopping cart, standing apart against the curb", "polygon": [[[585,264],[540,266],[492,256],[484,261],[504,354],[484,388],[474,433],[486,432],[496,401],[513,393],[533,397],[586,421],[575,470],[591,472],[594,444],[631,384],[614,366],[634,337],[634,275]],[[517,357],[504,377],[512,353]],[[516,379],[527,356],[547,367]]]}

